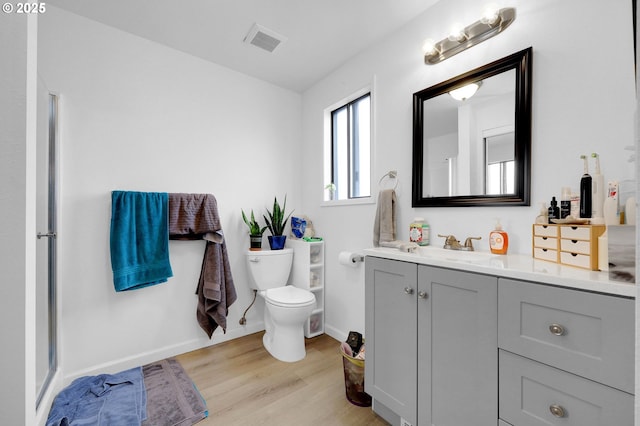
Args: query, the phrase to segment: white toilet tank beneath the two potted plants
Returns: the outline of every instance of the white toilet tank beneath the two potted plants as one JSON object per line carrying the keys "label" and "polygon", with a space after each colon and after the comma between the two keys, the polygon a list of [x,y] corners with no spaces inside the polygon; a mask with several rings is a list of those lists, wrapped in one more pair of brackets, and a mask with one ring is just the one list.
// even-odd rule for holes
{"label": "white toilet tank beneath the two potted plants", "polygon": [[247,251],[246,255],[253,288],[268,290],[287,285],[293,249]]}

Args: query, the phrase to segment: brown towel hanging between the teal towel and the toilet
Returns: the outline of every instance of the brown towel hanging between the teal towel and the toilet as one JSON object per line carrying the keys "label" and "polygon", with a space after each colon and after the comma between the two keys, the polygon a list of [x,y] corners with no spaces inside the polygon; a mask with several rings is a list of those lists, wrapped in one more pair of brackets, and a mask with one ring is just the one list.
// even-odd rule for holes
{"label": "brown towel hanging between the teal towel and the toilet", "polygon": [[216,198],[211,194],[169,194],[169,238],[207,240],[196,288],[196,317],[209,338],[218,326],[226,333],[229,306],[237,295]]}

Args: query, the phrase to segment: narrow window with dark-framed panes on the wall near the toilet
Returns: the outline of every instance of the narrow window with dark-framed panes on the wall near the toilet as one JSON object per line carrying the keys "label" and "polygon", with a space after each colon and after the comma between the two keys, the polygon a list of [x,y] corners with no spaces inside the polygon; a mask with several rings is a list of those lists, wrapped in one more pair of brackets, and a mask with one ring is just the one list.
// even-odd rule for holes
{"label": "narrow window with dark-framed panes on the wall near the toilet", "polygon": [[325,200],[371,196],[371,93],[331,111],[330,161]]}

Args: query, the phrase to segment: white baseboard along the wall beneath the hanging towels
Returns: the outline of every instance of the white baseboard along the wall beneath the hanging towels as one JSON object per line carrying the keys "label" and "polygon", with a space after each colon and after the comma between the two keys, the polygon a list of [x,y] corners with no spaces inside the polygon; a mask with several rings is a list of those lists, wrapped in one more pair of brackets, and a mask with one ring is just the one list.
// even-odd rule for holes
{"label": "white baseboard along the wall beneath the hanging towels", "polygon": [[257,333],[262,330],[264,330],[264,322],[260,321],[242,328],[228,330],[226,334],[222,333],[222,331],[220,331],[220,334],[217,334],[216,332],[213,335],[213,340],[193,339],[190,341],[178,343],[176,345],[166,346],[118,360],[109,361],[66,375],[64,377],[64,386],[68,385],[78,377],[118,373],[120,371],[149,364],[161,359],[170,358],[186,352],[206,348],[208,346],[214,346],[223,342],[227,342],[229,340],[237,339],[239,337],[248,336],[249,334]]}

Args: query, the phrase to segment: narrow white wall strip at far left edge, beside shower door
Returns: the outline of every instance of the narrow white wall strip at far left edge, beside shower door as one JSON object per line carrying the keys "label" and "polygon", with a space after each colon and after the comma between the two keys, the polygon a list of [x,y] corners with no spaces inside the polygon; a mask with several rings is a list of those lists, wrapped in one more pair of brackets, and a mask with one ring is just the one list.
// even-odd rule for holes
{"label": "narrow white wall strip at far left edge, beside shower door", "polygon": [[35,141],[37,17],[0,15],[0,418],[35,414]]}

